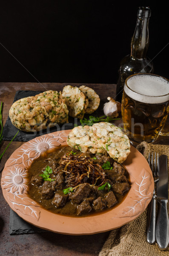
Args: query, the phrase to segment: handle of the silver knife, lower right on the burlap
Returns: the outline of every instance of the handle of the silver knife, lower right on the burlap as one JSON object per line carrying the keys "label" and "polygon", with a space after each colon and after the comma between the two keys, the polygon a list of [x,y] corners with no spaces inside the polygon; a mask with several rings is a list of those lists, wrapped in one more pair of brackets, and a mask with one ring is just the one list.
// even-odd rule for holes
{"label": "handle of the silver knife, lower right on the burlap", "polygon": [[161,250],[165,250],[169,244],[169,216],[167,212],[168,200],[160,200],[160,209],[156,225],[156,241]]}

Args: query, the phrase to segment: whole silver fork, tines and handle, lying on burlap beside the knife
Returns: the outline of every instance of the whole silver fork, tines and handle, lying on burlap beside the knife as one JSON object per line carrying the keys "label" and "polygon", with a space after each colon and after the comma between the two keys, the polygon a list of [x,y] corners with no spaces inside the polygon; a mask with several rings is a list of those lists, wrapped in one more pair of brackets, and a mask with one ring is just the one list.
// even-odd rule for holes
{"label": "whole silver fork, tines and handle, lying on burlap beside the knife", "polygon": [[[158,181],[159,176],[159,163],[158,163],[158,155],[154,157],[153,161],[153,153],[150,160],[150,154],[148,158],[149,166],[152,170],[152,175],[154,177],[154,182],[156,183]],[[156,209],[156,194],[155,194],[155,188],[153,191],[153,197],[152,200],[149,203],[149,210],[148,210],[148,220],[147,220],[147,241],[149,244],[153,244],[155,242],[155,209]]]}

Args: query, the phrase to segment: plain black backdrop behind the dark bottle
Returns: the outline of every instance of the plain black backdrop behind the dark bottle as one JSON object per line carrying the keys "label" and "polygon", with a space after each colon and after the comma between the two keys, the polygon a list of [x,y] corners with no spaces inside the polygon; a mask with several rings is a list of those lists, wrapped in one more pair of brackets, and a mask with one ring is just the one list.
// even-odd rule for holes
{"label": "plain black backdrop behind the dark bottle", "polygon": [[116,83],[139,6],[152,9],[147,56],[154,73],[169,79],[169,14],[161,1],[6,0],[0,82]]}

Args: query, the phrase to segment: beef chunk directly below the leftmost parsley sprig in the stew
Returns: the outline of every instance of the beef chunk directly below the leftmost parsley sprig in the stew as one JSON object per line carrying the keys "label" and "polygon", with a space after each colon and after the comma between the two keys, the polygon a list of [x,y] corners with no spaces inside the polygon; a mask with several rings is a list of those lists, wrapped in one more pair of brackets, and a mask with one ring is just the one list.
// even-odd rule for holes
{"label": "beef chunk directly below the leftmost parsley sprig in the stew", "polygon": [[49,181],[46,180],[43,182],[43,186],[41,189],[41,195],[44,199],[50,199],[54,196],[54,191],[56,191],[56,180]]}

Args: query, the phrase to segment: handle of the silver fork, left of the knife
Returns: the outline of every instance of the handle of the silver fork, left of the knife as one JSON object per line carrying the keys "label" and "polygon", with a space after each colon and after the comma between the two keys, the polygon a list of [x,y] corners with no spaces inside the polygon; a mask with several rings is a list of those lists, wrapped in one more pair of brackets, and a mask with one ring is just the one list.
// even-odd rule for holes
{"label": "handle of the silver fork, left of the knife", "polygon": [[147,241],[149,244],[155,242],[155,207],[156,199],[153,195],[152,200],[149,203],[148,220],[147,220]]}

